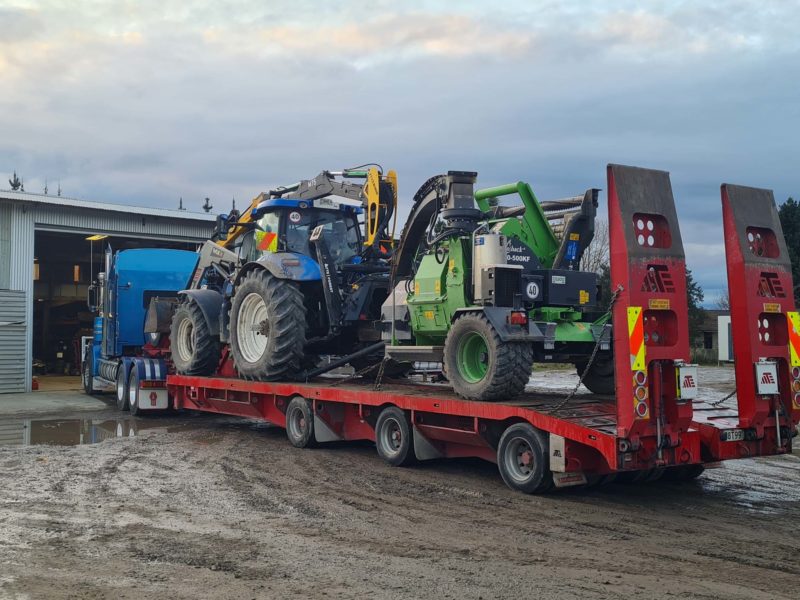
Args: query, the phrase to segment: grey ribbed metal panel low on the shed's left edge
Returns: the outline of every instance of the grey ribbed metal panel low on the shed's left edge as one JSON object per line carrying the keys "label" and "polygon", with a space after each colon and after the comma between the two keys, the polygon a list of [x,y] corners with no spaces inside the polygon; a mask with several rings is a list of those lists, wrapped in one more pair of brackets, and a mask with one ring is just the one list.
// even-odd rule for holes
{"label": "grey ribbed metal panel low on the shed's left edge", "polygon": [[26,294],[0,290],[0,392],[26,389]]}

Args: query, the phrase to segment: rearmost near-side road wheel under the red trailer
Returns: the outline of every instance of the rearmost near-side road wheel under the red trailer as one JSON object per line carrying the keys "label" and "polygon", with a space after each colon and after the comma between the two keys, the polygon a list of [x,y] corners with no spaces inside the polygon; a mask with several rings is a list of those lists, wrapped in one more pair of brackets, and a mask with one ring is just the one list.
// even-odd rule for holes
{"label": "rearmost near-side road wheel under the red trailer", "polygon": [[497,445],[500,476],[512,490],[540,494],[553,485],[547,436],[530,423],[515,423]]}

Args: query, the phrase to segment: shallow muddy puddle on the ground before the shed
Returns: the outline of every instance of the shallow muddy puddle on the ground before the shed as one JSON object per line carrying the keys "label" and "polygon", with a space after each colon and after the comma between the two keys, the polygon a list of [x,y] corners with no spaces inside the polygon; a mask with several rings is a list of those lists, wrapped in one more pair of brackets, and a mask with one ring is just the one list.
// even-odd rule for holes
{"label": "shallow muddy puddle on the ground before the shed", "polygon": [[144,429],[164,427],[133,418],[120,419],[10,419],[0,421],[0,445],[78,446],[118,437],[133,437]]}

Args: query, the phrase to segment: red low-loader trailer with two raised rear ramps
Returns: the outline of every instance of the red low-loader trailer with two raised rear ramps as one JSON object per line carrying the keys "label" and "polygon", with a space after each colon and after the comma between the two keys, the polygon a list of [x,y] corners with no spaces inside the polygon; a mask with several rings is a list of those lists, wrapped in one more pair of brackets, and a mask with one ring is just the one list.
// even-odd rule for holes
{"label": "red low-loader trailer with two raised rear ramps", "polygon": [[[611,165],[609,228],[616,395],[474,402],[446,386],[318,378],[266,383],[170,375],[174,406],[264,419],[297,447],[370,440],[395,465],[440,457],[498,464],[523,492],[610,479],[691,479],[722,460],[785,454],[800,420],[800,318],[772,193],[723,186],[736,408],[696,400],[683,245],[669,175]],[[702,384],[702,382],[699,382]]]}

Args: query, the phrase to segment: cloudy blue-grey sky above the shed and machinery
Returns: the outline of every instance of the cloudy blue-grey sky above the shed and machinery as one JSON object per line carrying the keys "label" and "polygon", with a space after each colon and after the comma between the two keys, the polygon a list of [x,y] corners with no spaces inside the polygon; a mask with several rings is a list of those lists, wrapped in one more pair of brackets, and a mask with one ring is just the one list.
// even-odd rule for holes
{"label": "cloudy blue-grey sky above the shed and machinery", "polygon": [[377,162],[402,219],[450,169],[541,199],[663,169],[709,304],[720,183],[800,197],[798,25],[800,0],[0,0],[0,175],[224,212]]}

